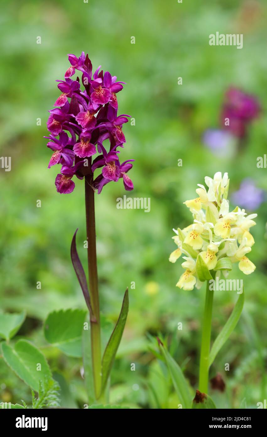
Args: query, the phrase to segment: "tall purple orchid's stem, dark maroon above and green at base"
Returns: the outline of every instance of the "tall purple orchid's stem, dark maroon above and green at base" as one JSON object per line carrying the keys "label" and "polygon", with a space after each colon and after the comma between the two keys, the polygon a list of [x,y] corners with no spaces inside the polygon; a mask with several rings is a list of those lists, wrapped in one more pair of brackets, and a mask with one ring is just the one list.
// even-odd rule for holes
{"label": "tall purple orchid's stem, dark maroon above and green at base", "polygon": [[101,341],[100,341],[100,313],[98,278],[96,265],[96,220],[95,198],[92,188],[92,174],[85,177],[85,202],[86,202],[86,235],[88,240],[88,272],[89,292],[92,303],[92,312],[96,322],[91,325],[92,368],[96,399],[101,394]]}

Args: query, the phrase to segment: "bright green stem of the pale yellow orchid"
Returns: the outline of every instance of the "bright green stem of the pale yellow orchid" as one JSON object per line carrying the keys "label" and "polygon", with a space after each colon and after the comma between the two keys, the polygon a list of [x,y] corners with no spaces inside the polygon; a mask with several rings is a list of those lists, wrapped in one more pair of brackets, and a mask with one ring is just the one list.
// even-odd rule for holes
{"label": "bright green stem of the pale yellow orchid", "polygon": [[205,308],[202,322],[202,340],[199,367],[199,390],[202,393],[208,393],[212,302],[213,290],[209,290],[209,281],[207,281]]}

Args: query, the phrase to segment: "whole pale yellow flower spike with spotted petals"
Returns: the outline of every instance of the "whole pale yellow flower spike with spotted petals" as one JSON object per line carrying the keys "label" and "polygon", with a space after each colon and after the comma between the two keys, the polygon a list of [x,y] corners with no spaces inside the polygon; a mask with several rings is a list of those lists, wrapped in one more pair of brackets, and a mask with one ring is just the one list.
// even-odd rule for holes
{"label": "whole pale yellow flower spike with spotted petals", "polygon": [[[257,214],[246,215],[239,207],[232,211],[227,200],[229,190],[228,173],[217,172],[214,177],[205,177],[205,184],[198,184],[198,198],[185,201],[193,216],[193,223],[184,229],[175,231],[173,237],[178,249],[175,249],[169,261],[175,263],[182,254],[186,261],[181,264],[185,272],[181,275],[177,287],[184,290],[200,288],[203,275],[198,271],[199,257],[206,268],[215,274],[227,274],[232,263],[238,262],[240,271],[251,274],[256,266],[246,256],[255,243],[250,228],[256,225],[253,218]],[[220,266],[216,268],[216,265]],[[219,265],[219,264],[218,264]],[[224,266],[224,268],[223,268]],[[215,272],[216,271],[216,272]],[[199,279],[200,277],[200,279]]]}

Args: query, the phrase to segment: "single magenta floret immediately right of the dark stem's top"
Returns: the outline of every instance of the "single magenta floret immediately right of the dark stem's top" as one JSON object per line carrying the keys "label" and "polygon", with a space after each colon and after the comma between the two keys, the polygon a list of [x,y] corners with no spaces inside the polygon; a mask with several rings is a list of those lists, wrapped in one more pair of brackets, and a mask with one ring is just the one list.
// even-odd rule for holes
{"label": "single magenta floret immediately right of the dark stem's top", "polygon": [[105,179],[114,180],[116,182],[120,177],[120,167],[116,165],[116,161],[119,160],[116,149],[116,146],[110,150],[109,153],[106,152],[106,149],[99,144],[102,149],[103,155],[98,156],[93,164],[92,164],[92,172],[96,170],[98,167],[103,167],[102,174]]}

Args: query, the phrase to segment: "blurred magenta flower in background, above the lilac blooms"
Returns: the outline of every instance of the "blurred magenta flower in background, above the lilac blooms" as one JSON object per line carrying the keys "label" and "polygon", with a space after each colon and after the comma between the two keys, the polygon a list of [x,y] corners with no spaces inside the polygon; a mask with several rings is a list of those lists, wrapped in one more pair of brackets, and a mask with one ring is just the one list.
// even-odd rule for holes
{"label": "blurred magenta flower in background, above the lilac blooms", "polygon": [[[238,138],[246,135],[247,126],[260,113],[260,104],[256,97],[245,94],[237,88],[231,87],[226,91],[222,108],[222,126]],[[229,118],[229,126],[225,119]]]}

